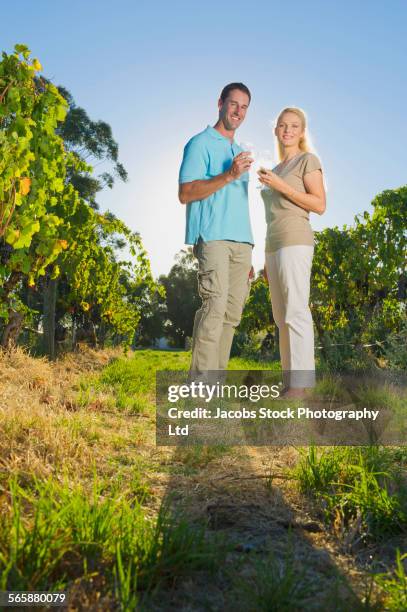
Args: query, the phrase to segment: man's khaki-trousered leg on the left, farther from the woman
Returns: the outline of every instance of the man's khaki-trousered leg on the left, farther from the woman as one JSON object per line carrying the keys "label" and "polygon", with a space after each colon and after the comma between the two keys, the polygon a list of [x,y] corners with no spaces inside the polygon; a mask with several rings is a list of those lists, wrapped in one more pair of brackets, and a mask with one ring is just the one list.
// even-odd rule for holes
{"label": "man's khaki-trousered leg on the left, farther from the woman", "polygon": [[197,245],[198,290],[202,306],[194,321],[191,372],[198,374],[219,367],[219,340],[229,284],[229,248],[223,240]]}

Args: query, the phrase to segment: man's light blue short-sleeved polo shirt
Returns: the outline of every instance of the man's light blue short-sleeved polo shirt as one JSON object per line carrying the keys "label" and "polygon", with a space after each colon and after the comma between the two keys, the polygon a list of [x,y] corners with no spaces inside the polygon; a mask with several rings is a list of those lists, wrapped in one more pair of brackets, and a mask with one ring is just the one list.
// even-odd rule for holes
{"label": "man's light blue short-sleeved polo shirt", "polygon": [[[180,183],[208,180],[230,168],[235,155],[243,149],[208,125],[193,136],[184,149],[179,173]],[[253,243],[248,202],[249,174],[231,181],[208,198],[186,205],[185,243],[199,238]]]}

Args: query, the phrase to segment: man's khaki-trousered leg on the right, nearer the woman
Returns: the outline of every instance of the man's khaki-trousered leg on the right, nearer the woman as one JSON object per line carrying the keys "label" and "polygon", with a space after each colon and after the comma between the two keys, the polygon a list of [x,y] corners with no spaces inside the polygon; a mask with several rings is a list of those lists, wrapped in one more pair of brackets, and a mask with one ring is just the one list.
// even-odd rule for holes
{"label": "man's khaki-trousered leg on the right, nearer the woman", "polygon": [[236,327],[250,292],[249,273],[252,265],[252,246],[244,242],[230,242],[229,291],[219,342],[220,370],[226,370]]}

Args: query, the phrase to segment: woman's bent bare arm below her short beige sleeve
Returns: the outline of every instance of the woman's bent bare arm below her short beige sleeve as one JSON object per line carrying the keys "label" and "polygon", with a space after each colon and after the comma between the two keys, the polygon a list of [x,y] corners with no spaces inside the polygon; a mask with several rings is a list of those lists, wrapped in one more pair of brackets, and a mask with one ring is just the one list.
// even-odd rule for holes
{"label": "woman's bent bare arm below her short beige sleeve", "polygon": [[260,183],[279,191],[300,208],[322,215],[326,209],[325,188],[322,172],[313,170],[304,175],[304,186],[307,193],[302,193],[291,187],[271,170],[258,172]]}

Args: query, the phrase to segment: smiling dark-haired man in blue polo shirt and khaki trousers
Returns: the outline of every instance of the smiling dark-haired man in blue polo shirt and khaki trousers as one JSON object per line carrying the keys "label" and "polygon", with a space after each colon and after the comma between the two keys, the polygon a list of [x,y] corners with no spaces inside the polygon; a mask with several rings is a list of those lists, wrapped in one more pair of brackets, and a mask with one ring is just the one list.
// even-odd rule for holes
{"label": "smiling dark-haired man in blue polo shirt and khaki trousers", "polygon": [[187,205],[185,242],[194,245],[198,258],[202,298],[192,339],[191,372],[196,374],[226,370],[250,291],[248,170],[253,159],[234,141],[250,99],[243,83],[226,85],[218,121],[187,143],[180,169],[179,200]]}

